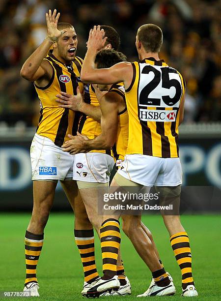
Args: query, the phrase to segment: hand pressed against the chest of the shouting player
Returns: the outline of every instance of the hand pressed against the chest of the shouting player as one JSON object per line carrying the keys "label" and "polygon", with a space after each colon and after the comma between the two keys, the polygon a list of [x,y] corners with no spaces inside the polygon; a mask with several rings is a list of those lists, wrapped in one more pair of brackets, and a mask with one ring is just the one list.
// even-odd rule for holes
{"label": "hand pressed against the chest of the shouting player", "polygon": [[77,88],[77,95],[71,95],[65,92],[60,92],[57,94],[55,99],[56,102],[60,103],[58,107],[67,108],[73,111],[80,111],[82,105],[84,104],[83,96],[80,92],[79,87]]}

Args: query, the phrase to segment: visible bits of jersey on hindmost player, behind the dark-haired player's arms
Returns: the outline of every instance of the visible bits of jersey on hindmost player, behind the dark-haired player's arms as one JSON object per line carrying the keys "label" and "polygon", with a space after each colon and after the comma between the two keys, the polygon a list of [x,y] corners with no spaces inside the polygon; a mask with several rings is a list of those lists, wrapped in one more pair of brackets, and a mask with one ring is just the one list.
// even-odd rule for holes
{"label": "visible bits of jersey on hindmost player, behind the dark-haired player's arms", "polygon": [[[84,102],[89,103],[95,107],[100,106],[92,85],[84,85],[83,95]],[[96,136],[99,136],[101,134],[101,123],[83,114],[79,122],[78,131],[79,133],[86,135],[89,139],[94,139]],[[93,150],[91,152],[102,152],[112,155],[111,150]]]}

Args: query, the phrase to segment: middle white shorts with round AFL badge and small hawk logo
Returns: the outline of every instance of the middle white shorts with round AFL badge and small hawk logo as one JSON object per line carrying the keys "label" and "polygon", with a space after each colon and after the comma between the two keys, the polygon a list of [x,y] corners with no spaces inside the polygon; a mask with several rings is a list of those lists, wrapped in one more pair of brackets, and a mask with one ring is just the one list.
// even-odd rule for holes
{"label": "middle white shorts with round AFL badge and small hawk logo", "polygon": [[113,158],[106,153],[77,153],[74,161],[73,180],[107,183],[110,180],[113,166]]}

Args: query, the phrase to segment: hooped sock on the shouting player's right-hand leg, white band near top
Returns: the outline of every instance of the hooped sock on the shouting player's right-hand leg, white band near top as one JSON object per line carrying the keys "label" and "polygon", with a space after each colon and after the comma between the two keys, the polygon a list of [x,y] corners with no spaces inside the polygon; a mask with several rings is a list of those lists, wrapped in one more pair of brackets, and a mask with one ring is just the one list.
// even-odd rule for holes
{"label": "hooped sock on the shouting player's right-hand leg, white band near top", "polygon": [[82,259],[84,281],[92,283],[99,277],[95,263],[94,230],[75,230],[75,241]]}

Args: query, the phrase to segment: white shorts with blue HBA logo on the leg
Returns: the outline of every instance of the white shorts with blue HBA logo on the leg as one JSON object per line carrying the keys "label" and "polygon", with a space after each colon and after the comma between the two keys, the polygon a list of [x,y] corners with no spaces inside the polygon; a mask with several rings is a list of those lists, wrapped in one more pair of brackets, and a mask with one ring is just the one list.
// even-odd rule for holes
{"label": "white shorts with blue HBA logo on the leg", "polygon": [[74,155],[47,138],[38,134],[30,147],[32,180],[72,180]]}

